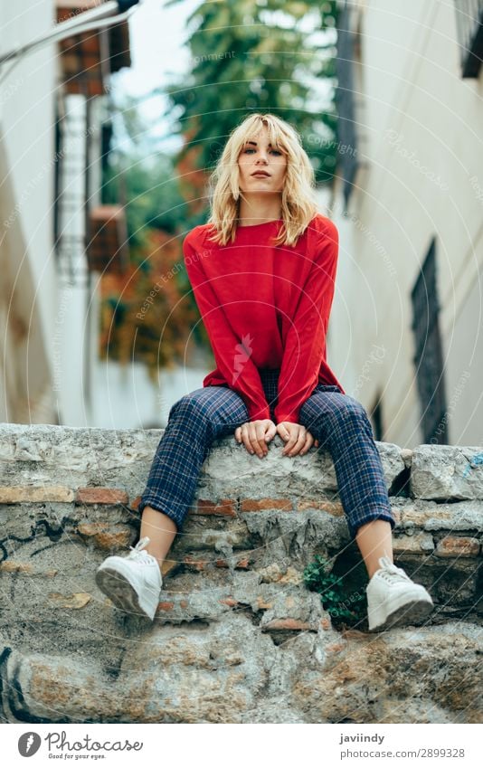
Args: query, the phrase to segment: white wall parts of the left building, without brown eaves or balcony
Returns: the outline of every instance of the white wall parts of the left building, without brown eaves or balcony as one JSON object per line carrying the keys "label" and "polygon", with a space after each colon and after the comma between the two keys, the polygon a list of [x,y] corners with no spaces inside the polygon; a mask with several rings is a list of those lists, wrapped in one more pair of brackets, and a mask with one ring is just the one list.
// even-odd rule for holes
{"label": "white wall parts of the left building, without brown eaves or balcony", "polygon": [[[0,51],[56,22],[53,0],[0,5]],[[101,100],[63,95],[57,43],[26,55],[0,82],[0,420],[89,426],[99,333],[99,286],[85,256],[86,143],[89,204],[99,203]],[[0,77],[10,64],[0,68]],[[53,248],[54,175],[61,169],[60,258]]]}

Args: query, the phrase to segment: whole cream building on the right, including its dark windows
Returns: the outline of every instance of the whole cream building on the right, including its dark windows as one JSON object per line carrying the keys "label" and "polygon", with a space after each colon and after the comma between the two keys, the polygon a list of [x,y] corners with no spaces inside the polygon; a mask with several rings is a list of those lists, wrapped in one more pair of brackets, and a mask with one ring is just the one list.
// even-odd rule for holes
{"label": "whole cream building on the right, including its dark windows", "polygon": [[483,3],[339,3],[329,357],[379,440],[483,443]]}

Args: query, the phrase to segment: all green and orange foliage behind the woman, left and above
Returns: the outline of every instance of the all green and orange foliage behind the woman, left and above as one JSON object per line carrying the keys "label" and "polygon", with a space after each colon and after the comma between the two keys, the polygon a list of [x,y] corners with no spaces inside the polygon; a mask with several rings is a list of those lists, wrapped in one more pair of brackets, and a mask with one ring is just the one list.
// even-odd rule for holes
{"label": "all green and orange foliage behind the woman, left and above", "polygon": [[[190,71],[162,90],[182,149],[174,157],[157,151],[136,100],[124,96],[104,178],[103,202],[126,205],[131,268],[103,294],[100,351],[143,359],[153,376],[183,354],[190,327],[207,345],[181,242],[204,223],[208,175],[232,128],[250,111],[273,112],[298,128],[318,184],[329,183],[336,166],[335,0],[201,2],[187,28]],[[166,271],[169,288],[139,313]]]}

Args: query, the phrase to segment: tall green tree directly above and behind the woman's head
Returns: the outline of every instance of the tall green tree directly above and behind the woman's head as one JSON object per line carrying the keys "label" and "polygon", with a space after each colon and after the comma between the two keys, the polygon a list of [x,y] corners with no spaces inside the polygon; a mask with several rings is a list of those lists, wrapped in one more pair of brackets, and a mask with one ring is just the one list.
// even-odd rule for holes
{"label": "tall green tree directly above and behind the woman's head", "polygon": [[177,129],[190,127],[178,160],[199,147],[196,167],[211,169],[248,112],[270,111],[298,128],[317,183],[329,182],[336,166],[336,2],[202,2],[187,24],[191,71],[167,89]]}

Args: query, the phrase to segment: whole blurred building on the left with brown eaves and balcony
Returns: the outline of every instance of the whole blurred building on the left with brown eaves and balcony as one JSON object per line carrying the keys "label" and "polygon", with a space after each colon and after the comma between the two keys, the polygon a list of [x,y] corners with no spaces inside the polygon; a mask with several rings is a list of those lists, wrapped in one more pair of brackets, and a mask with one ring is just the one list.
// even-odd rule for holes
{"label": "whole blurred building on the left with brown eaves and balcony", "polygon": [[[3,4],[2,42],[20,48],[95,5]],[[121,22],[47,45],[1,72],[3,421],[92,421],[96,274],[122,269],[128,258],[122,206],[100,204],[106,99],[111,73],[129,63]]]}

